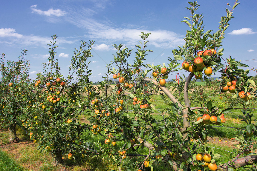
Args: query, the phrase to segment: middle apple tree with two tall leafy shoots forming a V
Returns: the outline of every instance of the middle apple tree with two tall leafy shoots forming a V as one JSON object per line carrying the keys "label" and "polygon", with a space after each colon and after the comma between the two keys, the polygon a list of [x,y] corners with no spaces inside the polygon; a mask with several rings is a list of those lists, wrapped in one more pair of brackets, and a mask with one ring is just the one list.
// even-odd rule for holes
{"label": "middle apple tree with two tall leafy shoots forming a V", "polygon": [[69,74],[65,78],[61,74],[58,59],[55,58],[56,39],[56,35],[52,36],[51,44],[48,44],[49,63],[43,64],[43,72],[38,73],[37,80],[34,81],[37,101],[31,108],[25,109],[27,117],[23,120],[23,126],[29,130],[34,143],[39,145],[38,149],[51,153],[53,165],[63,163],[62,156],[68,156],[71,160],[76,155],[79,158],[85,157],[84,141],[80,139],[83,125],[79,124],[78,115],[88,106],[88,101],[82,98],[82,94],[85,90],[94,89],[88,79],[91,75],[88,58],[92,57],[91,47],[94,41],[81,41],[79,49],[75,49],[74,56],[71,57]]}

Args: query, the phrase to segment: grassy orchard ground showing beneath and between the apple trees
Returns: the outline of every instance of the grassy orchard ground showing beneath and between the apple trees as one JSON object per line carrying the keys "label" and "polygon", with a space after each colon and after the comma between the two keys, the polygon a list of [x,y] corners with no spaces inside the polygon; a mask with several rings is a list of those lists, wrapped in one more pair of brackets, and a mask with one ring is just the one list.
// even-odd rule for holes
{"label": "grassy orchard ground showing beneath and between the apple trees", "polygon": [[[157,110],[168,107],[169,104],[163,100],[160,95],[151,96],[150,102],[154,104],[156,110],[155,113],[158,113]],[[221,99],[217,99],[221,100]],[[228,161],[228,156],[230,152],[235,148],[233,144],[238,143],[234,139],[231,139],[236,134],[235,128],[226,128],[226,127],[242,127],[244,122],[240,121],[237,114],[241,113],[241,109],[233,110],[231,113],[225,115],[226,123],[219,125],[222,127],[217,127],[218,131],[213,131],[214,138],[209,137],[208,145],[214,147],[215,153],[220,153],[222,158],[216,161],[217,164],[224,163]],[[257,113],[255,110],[254,113]],[[132,114],[132,113],[131,113]],[[89,114],[84,113],[79,116],[79,121],[81,123],[90,124],[88,121]],[[160,117],[156,115],[156,117]],[[256,116],[255,116],[256,117]],[[33,171],[106,171],[106,170],[118,170],[118,164],[114,161],[109,161],[107,159],[102,160],[101,158],[93,158],[93,155],[88,155],[84,159],[77,159],[73,161],[65,160],[65,165],[59,167],[51,166],[52,158],[49,153],[43,152],[40,153],[36,150],[36,144],[31,142],[28,138],[28,135],[25,131],[17,127],[17,136],[20,138],[19,143],[8,144],[8,132],[5,129],[0,130],[0,171],[1,170],[33,170]],[[91,133],[85,131],[85,139],[91,139]],[[94,136],[91,141],[97,141],[100,138],[100,135]],[[220,141],[219,141],[220,140]],[[121,142],[117,143],[117,149],[121,148],[123,144]],[[224,151],[226,150],[226,151]],[[228,151],[228,152],[227,152]],[[148,154],[148,150],[145,148],[139,149],[136,152],[128,151],[129,154]],[[127,157],[121,162],[129,165],[135,161],[143,161],[143,157]],[[126,168],[123,168],[126,170]],[[154,164],[154,170],[170,170],[169,166],[160,163]]]}

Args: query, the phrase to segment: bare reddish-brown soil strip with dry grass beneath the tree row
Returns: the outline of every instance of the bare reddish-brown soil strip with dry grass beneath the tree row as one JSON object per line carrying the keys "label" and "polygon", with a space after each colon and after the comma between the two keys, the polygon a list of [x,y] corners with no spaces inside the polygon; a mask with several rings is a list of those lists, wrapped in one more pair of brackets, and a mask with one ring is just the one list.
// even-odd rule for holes
{"label": "bare reddish-brown soil strip with dry grass beneath the tree row", "polygon": [[[11,158],[14,158],[15,161],[20,164],[22,167],[25,168],[27,171],[94,171],[97,169],[90,169],[90,167],[86,167],[85,162],[75,162],[71,163],[69,160],[65,160],[64,165],[59,165],[58,167],[52,167],[51,166],[51,155],[49,153],[43,152],[40,153],[39,150],[37,150],[37,145],[34,144],[32,141],[29,141],[29,139],[22,135],[20,133],[21,131],[18,131],[18,137],[20,138],[20,141],[17,143],[11,143],[8,144],[6,141],[3,140],[3,136],[0,137],[0,150],[7,152]],[[23,132],[24,133],[24,132]],[[0,130],[0,135],[7,135],[7,130]],[[214,137],[210,138],[208,137],[209,142],[208,144],[210,146],[212,145],[218,145],[218,147],[222,148],[222,146],[235,148],[233,144],[238,143],[235,139],[228,139],[228,138],[220,138],[220,137]],[[220,141],[219,141],[220,140]],[[1,168],[1,166],[0,166]],[[44,169],[45,168],[45,169]]]}

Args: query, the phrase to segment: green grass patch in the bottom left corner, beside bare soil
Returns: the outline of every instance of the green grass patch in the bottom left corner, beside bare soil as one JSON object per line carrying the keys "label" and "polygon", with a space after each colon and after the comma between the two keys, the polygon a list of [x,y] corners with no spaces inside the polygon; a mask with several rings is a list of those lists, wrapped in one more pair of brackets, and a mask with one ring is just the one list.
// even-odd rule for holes
{"label": "green grass patch in the bottom left corner, beside bare soil", "polygon": [[0,149],[0,171],[26,171],[15,159]]}

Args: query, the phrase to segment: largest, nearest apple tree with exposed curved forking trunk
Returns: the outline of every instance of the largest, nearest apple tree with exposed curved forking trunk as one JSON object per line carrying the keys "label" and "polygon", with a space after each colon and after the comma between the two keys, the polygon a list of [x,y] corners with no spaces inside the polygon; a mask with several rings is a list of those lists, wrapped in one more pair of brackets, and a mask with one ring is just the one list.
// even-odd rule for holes
{"label": "largest, nearest apple tree with exposed curved forking trunk", "polygon": [[[213,136],[213,126],[224,123],[225,114],[231,109],[219,110],[213,105],[213,101],[201,102],[199,106],[191,107],[188,94],[193,77],[205,80],[208,84],[208,76],[220,72],[221,93],[229,91],[232,98],[240,98],[245,105],[256,100],[255,83],[251,76],[247,76],[249,70],[241,68],[248,66],[232,57],[222,58],[222,39],[230,19],[233,18],[232,11],[239,3],[236,1],[231,7],[232,10],[226,9],[227,15],[221,17],[215,33],[213,30],[204,31],[203,15],[196,13],[199,4],[196,1],[189,4],[191,7],[187,9],[190,10],[191,16],[182,21],[189,26],[184,38],[185,45],[172,50],[174,58],[169,58],[169,64],[145,64],[147,53],[152,51],[146,49],[150,33],[142,32],[140,35],[142,41],[135,46],[137,51],[132,63],[132,50],[123,44],[114,44],[117,53],[109,68],[112,65],[115,67],[108,70],[108,73],[118,79],[116,87],[110,96],[103,94],[91,98],[92,136],[100,134],[103,137],[94,142],[94,149],[97,149],[101,158],[104,155],[119,161],[120,167],[122,164],[126,165],[123,162],[126,156],[144,157],[142,160],[130,158],[132,164],[126,165],[127,170],[142,170],[143,167],[153,170],[154,163],[157,162],[165,162],[173,170],[233,170],[239,167],[256,170],[257,154],[254,150],[257,127],[256,122],[251,119],[253,114],[244,110],[240,115],[246,123],[245,127],[238,129],[238,135],[235,137],[240,141],[240,148],[233,150],[230,161],[216,164],[215,160],[221,155],[215,153],[206,143],[207,136]],[[181,68],[179,61],[182,61]],[[165,87],[165,79],[179,69],[188,71],[188,76],[181,89],[183,98],[177,99]],[[108,75],[105,82],[108,82]],[[154,114],[157,110],[149,101],[151,95],[160,92],[166,94],[173,105],[159,111],[158,118]],[[127,109],[132,110],[133,114],[129,114]],[[122,148],[116,145],[119,141],[124,144]],[[139,147],[147,148],[148,153],[138,154]],[[246,151],[248,155],[242,157]],[[137,154],[131,154],[132,152]],[[254,168],[249,167],[249,164]]]}

